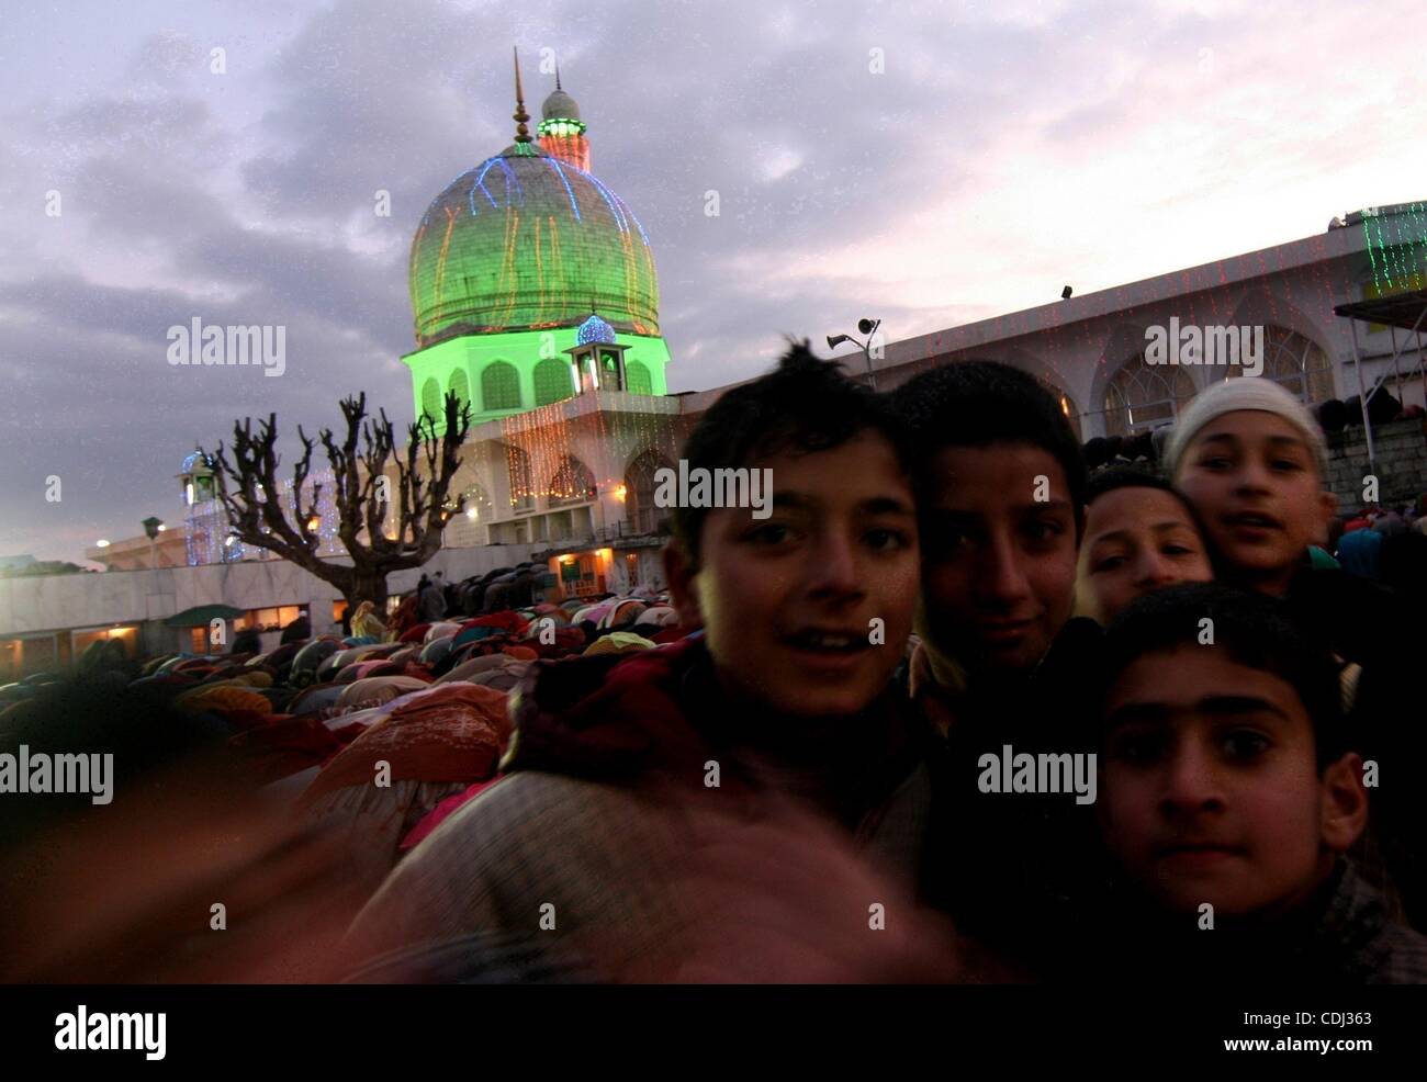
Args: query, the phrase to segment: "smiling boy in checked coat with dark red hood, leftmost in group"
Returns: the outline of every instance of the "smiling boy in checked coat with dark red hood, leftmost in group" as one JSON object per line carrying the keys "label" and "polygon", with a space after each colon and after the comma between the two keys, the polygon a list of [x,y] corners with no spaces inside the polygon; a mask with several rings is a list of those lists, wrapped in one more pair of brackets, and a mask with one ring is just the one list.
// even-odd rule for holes
{"label": "smiling boy in checked coat with dark red hood, leftmost in group", "polygon": [[665,565],[701,635],[537,662],[512,694],[508,777],[442,822],[354,925],[364,954],[410,952],[415,968],[387,976],[425,976],[432,944],[529,935],[599,979],[668,979],[698,924],[701,899],[669,886],[691,809],[791,799],[913,878],[929,782],[889,685],[919,571],[900,424],[802,345],[715,403],[684,457],[691,475],[769,471],[771,514],[674,508]]}

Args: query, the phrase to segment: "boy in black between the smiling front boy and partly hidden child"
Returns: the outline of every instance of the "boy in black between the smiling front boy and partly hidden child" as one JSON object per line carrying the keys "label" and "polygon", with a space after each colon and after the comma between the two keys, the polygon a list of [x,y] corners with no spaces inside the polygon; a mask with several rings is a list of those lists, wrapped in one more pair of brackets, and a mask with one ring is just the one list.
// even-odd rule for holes
{"label": "boy in black between the smiling front boy and partly hidden child", "polygon": [[910,691],[935,789],[923,891],[962,934],[1026,976],[1047,974],[1090,889],[1093,814],[1075,794],[993,788],[983,764],[1069,755],[1080,758],[1057,762],[1089,777],[1099,628],[1070,615],[1085,460],[1055,397],[1005,364],[933,368],[895,401],[919,467]]}

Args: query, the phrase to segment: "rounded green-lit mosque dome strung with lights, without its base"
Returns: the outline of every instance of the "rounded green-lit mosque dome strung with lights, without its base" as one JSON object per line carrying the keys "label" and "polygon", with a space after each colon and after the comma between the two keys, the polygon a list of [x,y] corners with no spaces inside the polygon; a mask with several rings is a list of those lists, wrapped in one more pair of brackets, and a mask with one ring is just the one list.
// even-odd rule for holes
{"label": "rounded green-lit mosque dome strung with lights, without its base", "polygon": [[[578,113],[577,113],[578,116]],[[659,334],[649,238],[594,174],[517,141],[462,173],[411,243],[417,343],[577,327]]]}

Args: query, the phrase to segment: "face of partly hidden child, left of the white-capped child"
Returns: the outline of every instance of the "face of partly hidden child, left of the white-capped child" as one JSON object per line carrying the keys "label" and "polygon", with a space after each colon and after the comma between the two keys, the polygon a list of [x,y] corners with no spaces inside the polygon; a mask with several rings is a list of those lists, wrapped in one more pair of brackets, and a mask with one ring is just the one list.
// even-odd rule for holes
{"label": "face of partly hidden child, left of the white-capped child", "polygon": [[1140,594],[1213,577],[1199,527],[1173,492],[1113,488],[1086,508],[1077,587],[1102,624]]}

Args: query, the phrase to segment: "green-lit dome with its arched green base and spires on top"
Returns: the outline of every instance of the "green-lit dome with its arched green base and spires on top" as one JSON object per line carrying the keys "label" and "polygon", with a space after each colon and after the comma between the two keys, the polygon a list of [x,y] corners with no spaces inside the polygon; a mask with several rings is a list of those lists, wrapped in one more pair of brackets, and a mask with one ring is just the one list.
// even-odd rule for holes
{"label": "green-lit dome with its arched green base and spires on top", "polygon": [[[518,80],[518,76],[517,76]],[[527,134],[517,81],[515,143],[462,173],[427,208],[411,243],[418,348],[415,415],[454,390],[472,424],[578,393],[581,345],[608,343],[591,367],[601,390],[664,395],[654,253],[634,211],[588,168],[578,106],[557,89],[539,143]]]}

